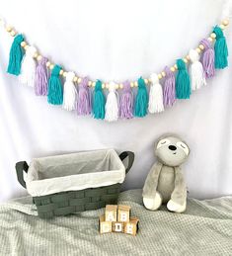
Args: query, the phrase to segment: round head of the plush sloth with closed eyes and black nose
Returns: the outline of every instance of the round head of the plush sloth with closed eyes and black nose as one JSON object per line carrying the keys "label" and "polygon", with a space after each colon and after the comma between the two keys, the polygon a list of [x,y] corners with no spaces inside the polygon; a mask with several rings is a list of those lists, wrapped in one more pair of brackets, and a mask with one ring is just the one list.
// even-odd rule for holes
{"label": "round head of the plush sloth with closed eyes and black nose", "polygon": [[155,148],[158,159],[168,166],[179,166],[190,154],[189,146],[179,137],[170,135],[158,140]]}

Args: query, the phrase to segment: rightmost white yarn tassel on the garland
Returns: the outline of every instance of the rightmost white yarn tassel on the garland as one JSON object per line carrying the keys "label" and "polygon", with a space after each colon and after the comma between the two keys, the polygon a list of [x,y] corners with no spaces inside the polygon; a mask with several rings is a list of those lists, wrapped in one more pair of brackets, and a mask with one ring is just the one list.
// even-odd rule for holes
{"label": "rightmost white yarn tassel on the garland", "polygon": [[190,50],[190,58],[192,64],[190,66],[192,90],[197,90],[201,86],[206,85],[206,80],[203,72],[203,66],[199,62],[199,53],[195,49]]}

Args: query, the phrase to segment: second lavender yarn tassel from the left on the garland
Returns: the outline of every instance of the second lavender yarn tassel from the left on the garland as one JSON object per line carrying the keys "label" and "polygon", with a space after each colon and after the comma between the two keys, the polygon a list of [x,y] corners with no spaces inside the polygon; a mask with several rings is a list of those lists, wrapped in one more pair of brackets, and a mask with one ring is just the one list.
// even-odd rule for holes
{"label": "second lavender yarn tassel from the left on the garland", "polygon": [[77,103],[77,114],[82,116],[91,114],[91,100],[88,82],[88,78],[85,77],[79,84],[79,100]]}

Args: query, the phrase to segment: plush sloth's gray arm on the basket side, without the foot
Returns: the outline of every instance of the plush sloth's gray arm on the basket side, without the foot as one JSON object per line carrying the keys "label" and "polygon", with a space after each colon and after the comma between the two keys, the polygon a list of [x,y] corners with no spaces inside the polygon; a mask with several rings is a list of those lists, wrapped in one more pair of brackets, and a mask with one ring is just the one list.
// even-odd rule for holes
{"label": "plush sloth's gray arm on the basket side, without the foot", "polygon": [[155,198],[156,196],[156,189],[158,185],[158,180],[159,180],[159,175],[160,171],[162,169],[163,164],[160,162],[156,162],[152,167],[147,175],[144,187],[143,187],[143,192],[142,196],[143,198]]}

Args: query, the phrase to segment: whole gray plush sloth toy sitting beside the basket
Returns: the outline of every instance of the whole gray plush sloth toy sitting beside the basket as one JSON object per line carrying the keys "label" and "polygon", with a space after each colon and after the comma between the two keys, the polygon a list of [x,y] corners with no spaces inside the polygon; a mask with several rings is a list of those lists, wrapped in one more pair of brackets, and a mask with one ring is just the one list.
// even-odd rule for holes
{"label": "whole gray plush sloth toy sitting beside the basket", "polygon": [[190,148],[176,135],[160,137],[155,146],[157,162],[152,166],[144,187],[143,204],[156,211],[167,203],[171,212],[184,213],[187,205],[187,187],[180,165],[186,161]]}

